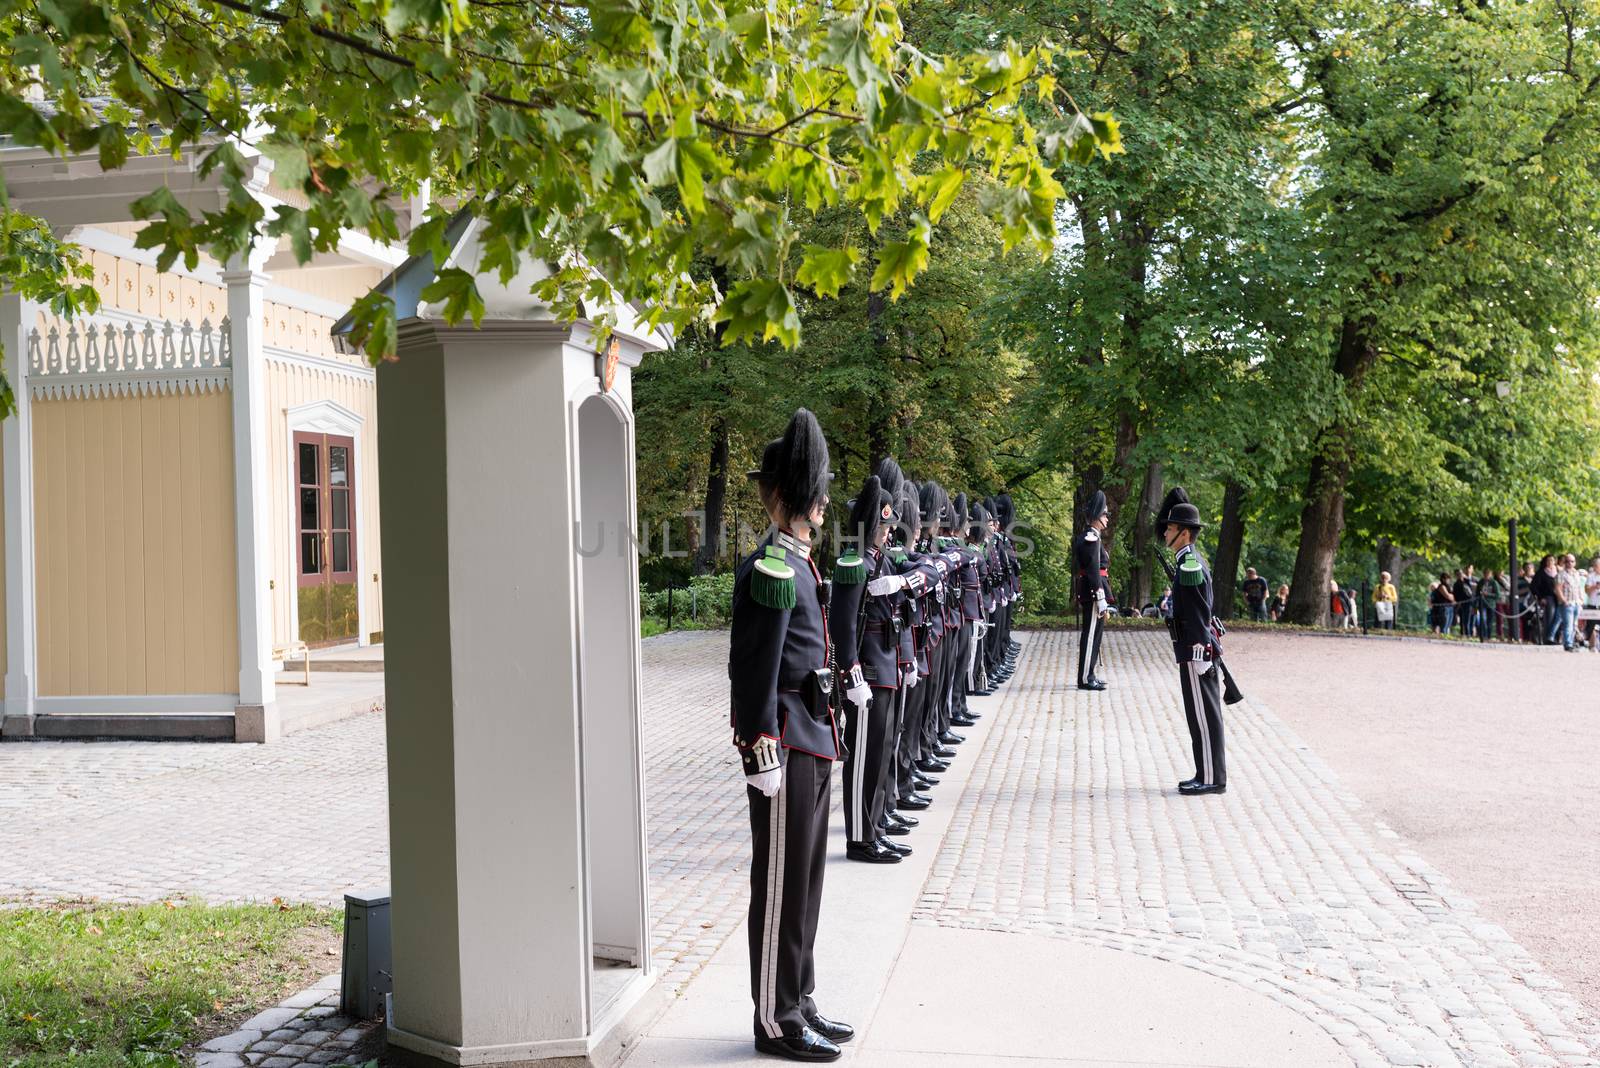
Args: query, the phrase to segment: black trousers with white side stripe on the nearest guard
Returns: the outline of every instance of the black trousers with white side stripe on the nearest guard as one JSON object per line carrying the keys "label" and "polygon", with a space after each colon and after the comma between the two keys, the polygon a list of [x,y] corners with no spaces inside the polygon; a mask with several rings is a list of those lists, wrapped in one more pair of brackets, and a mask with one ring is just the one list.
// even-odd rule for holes
{"label": "black trousers with white side stripe on the nearest guard", "polygon": [[832,761],[789,750],[784,783],[750,799],[750,998],[755,1034],[794,1034],[816,1014],[816,921],[827,859]]}

